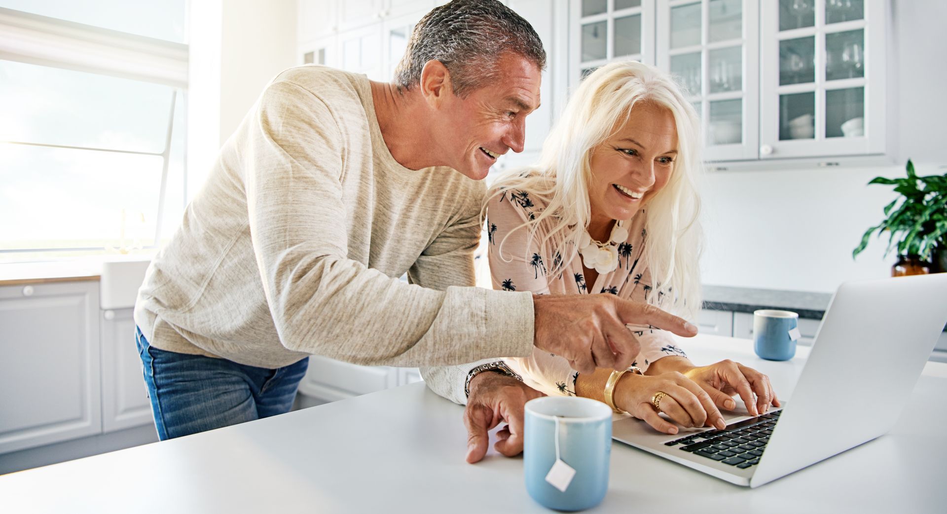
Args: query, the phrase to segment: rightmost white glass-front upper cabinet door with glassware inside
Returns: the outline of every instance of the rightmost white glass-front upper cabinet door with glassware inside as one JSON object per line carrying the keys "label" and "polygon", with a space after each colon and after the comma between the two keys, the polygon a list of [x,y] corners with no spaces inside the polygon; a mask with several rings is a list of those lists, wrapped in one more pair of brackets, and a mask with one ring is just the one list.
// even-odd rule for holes
{"label": "rightmost white glass-front upper cabinet door with glassware inside", "polygon": [[760,157],[884,153],[887,2],[760,9]]}

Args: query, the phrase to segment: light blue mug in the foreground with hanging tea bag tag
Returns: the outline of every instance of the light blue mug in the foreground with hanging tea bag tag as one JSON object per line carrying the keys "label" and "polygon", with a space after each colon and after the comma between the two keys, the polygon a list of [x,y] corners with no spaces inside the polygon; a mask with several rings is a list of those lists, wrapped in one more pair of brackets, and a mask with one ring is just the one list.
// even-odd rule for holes
{"label": "light blue mug in the foreground with hanging tea bag tag", "polygon": [[[587,398],[531,399],[526,404],[524,431],[523,469],[533,500],[557,510],[581,510],[601,503],[608,491],[612,455],[611,408]],[[564,471],[557,460],[563,461]],[[568,469],[575,470],[571,478]],[[559,471],[566,475],[564,479]]]}

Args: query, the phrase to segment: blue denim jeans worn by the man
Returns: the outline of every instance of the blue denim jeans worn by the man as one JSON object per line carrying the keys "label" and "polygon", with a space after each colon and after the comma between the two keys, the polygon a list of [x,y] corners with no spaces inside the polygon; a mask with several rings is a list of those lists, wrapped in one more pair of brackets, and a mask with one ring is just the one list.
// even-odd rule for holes
{"label": "blue denim jeans worn by the man", "polygon": [[288,413],[309,358],[277,369],[155,348],[135,327],[161,440]]}

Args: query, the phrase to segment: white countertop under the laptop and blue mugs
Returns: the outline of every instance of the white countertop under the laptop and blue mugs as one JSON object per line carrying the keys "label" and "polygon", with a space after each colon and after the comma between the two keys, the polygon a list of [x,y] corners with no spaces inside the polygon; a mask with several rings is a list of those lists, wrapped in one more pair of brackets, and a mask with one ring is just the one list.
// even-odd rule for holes
{"label": "white countertop under the laptop and blue mugs", "polygon": [[[781,399],[793,361],[748,340],[697,336],[697,363],[729,357],[768,373]],[[866,370],[875,373],[875,370]],[[879,374],[879,380],[884,380]],[[605,501],[589,512],[940,512],[947,505],[947,364],[927,363],[890,434],[749,489],[615,443]],[[857,394],[857,393],[855,393]],[[464,462],[462,407],[422,383],[287,415],[0,476],[5,512],[549,512],[523,461]],[[884,416],[883,410],[879,413]]]}

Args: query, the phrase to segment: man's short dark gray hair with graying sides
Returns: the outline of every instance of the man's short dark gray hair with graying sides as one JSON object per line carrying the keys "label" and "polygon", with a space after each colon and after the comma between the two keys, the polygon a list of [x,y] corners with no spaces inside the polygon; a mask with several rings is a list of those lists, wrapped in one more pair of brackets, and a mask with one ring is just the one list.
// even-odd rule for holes
{"label": "man's short dark gray hair with graying sides", "polygon": [[466,97],[498,79],[497,58],[507,52],[545,69],[543,43],[522,16],[496,0],[454,0],[420,19],[394,80],[399,89],[411,89],[424,64],[437,60],[450,72],[454,94]]}

